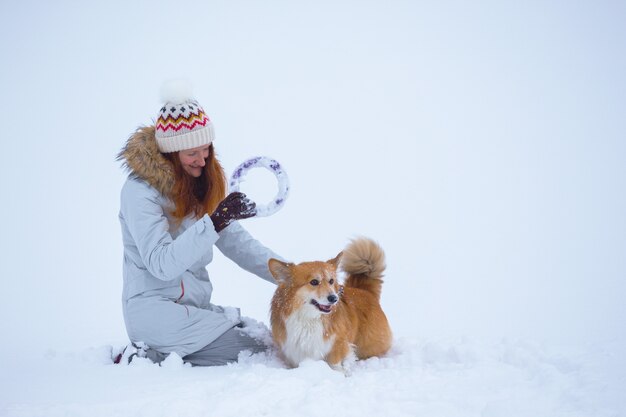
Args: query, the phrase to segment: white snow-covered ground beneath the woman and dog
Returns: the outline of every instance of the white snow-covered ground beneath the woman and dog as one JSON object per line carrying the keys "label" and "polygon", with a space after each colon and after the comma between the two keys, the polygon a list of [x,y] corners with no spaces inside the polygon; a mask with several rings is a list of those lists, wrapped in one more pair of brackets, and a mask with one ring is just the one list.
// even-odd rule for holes
{"label": "white snow-covered ground beneath the woman and dog", "polygon": [[[553,349],[524,341],[397,339],[352,375],[273,351],[210,368],[178,356],[110,362],[111,346],[4,357],[0,415],[622,417],[626,343]],[[13,358],[14,359],[14,358]]]}

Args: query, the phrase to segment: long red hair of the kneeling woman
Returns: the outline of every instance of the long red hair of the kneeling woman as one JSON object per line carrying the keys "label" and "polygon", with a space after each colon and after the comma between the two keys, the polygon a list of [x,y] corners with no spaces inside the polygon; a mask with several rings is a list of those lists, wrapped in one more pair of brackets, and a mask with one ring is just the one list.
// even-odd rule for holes
{"label": "long red hair of the kneeling woman", "polygon": [[198,219],[205,213],[213,213],[220,201],[226,197],[226,175],[215,157],[213,144],[209,146],[209,156],[198,178],[185,172],[178,152],[166,153],[164,156],[174,166],[172,198],[175,208],[171,213],[172,216],[181,221],[192,213]]}

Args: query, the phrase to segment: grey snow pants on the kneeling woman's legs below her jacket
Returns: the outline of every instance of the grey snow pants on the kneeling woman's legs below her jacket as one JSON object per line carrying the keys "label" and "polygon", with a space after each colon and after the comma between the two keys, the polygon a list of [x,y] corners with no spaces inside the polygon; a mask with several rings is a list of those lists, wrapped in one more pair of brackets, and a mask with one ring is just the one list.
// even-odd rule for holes
{"label": "grey snow pants on the kneeling woman's legs below her jacket", "polygon": [[[220,366],[230,362],[237,362],[239,353],[248,350],[252,353],[263,352],[267,346],[246,333],[239,327],[233,327],[197,352],[183,357],[184,362],[193,366]],[[148,349],[146,356],[154,363],[161,363],[169,353],[161,353]]]}

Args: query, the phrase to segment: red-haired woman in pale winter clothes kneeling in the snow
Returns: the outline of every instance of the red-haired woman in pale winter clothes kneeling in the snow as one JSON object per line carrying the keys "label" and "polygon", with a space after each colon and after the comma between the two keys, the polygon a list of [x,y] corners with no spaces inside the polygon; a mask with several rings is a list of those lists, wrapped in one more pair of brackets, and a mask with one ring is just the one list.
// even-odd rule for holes
{"label": "red-haired woman in pale winter clothes kneeling in the snow", "polygon": [[275,283],[277,257],[237,220],[255,215],[242,193],[226,196],[213,126],[192,99],[170,99],[155,126],[139,128],[118,159],[130,175],[121,192],[122,303],[132,344],[117,355],[162,361],[176,352],[193,365],[222,365],[265,346],[239,330],[236,309],[211,304],[206,266],[213,246],[240,267]]}

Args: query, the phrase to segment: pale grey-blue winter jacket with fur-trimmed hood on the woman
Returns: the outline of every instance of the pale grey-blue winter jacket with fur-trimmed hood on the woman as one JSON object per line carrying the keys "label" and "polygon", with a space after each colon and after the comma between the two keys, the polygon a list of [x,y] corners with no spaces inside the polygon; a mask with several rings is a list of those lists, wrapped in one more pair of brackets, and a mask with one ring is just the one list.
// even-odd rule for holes
{"label": "pale grey-blue winter jacket with fur-trimmed hood on the woman", "polygon": [[[147,151],[146,151],[147,150]],[[211,304],[206,266],[216,246],[240,267],[274,283],[267,262],[278,256],[238,222],[219,234],[208,215],[170,216],[171,171],[153,128],[139,129],[120,153],[131,175],[121,192],[124,320],[130,339],[181,357],[238,324],[238,313]],[[169,187],[169,188],[168,188]]]}

